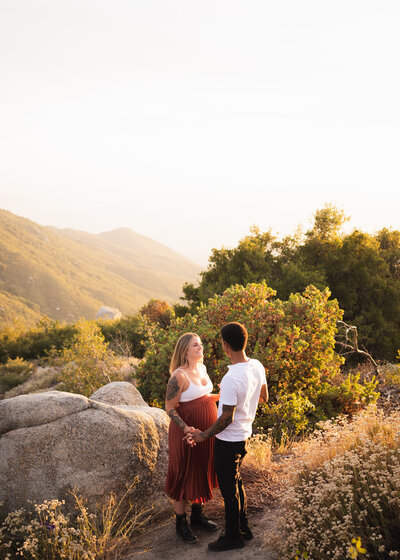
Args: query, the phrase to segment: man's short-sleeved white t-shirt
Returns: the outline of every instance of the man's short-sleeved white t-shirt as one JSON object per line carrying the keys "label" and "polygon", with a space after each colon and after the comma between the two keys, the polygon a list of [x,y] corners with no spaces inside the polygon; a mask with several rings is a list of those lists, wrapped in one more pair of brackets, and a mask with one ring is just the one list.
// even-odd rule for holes
{"label": "man's short-sleeved white t-shirt", "polygon": [[218,417],[224,404],[236,406],[232,424],[215,437],[224,441],[244,441],[251,436],[262,385],[267,383],[264,366],[250,359],[228,366],[220,386]]}

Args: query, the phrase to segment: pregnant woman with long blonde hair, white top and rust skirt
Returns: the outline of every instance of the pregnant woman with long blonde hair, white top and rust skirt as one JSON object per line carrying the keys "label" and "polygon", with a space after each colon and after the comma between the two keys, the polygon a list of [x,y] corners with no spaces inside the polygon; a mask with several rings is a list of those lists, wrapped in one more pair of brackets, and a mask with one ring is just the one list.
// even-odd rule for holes
{"label": "pregnant woman with long blonde hair, white top and rust skirt", "polygon": [[176,531],[183,540],[197,542],[186,519],[186,504],[192,502],[191,524],[208,531],[217,525],[207,519],[203,503],[212,498],[217,486],[214,471],[214,438],[201,445],[190,445],[193,426],[201,431],[217,419],[212,383],[203,365],[203,345],[195,333],[183,334],[176,343],[170,365],[165,410],[169,425],[169,461],[165,492],[172,498],[176,514]]}

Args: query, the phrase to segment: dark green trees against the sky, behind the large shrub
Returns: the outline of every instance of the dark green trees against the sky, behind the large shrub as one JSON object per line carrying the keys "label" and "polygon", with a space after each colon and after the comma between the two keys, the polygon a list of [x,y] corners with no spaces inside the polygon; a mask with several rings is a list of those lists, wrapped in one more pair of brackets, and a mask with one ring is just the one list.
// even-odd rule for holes
{"label": "dark green trees against the sky, behind the large shrub", "polygon": [[213,249],[199,285],[184,286],[188,311],[235,284],[265,281],[281,299],[312,284],[338,299],[345,321],[358,328],[361,346],[393,360],[400,348],[400,232],[345,234],[347,220],[326,204],[305,235],[297,231],[279,241],[253,227],[237,247]]}

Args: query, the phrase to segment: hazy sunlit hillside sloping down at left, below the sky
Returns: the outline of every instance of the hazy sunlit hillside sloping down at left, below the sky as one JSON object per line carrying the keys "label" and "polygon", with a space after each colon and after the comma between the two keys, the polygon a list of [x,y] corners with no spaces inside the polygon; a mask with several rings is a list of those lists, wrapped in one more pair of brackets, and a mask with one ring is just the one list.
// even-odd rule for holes
{"label": "hazy sunlit hillside sloping down at left, below the sky", "polygon": [[94,318],[104,305],[131,314],[151,298],[172,303],[199,269],[126,228],[94,235],[0,210],[0,326]]}

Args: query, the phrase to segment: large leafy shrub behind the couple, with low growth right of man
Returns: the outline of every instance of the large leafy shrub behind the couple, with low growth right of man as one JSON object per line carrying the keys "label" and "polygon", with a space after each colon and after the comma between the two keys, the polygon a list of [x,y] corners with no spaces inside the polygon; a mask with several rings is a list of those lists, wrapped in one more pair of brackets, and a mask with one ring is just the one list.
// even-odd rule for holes
{"label": "large leafy shrub behind the couple, with low growth right of man", "polygon": [[222,350],[220,328],[239,321],[249,333],[248,355],[260,360],[267,372],[270,401],[259,408],[256,426],[272,429],[277,441],[300,436],[321,420],[375,402],[375,380],[361,384],[359,377],[349,376],[337,383],[343,359],[334,346],[342,311],[336,300],[329,300],[329,290],[308,286],[288,301],[273,299],[274,295],[265,283],[236,285],[201,304],[196,314],[173,319],[169,329],[149,324],[145,359],[136,371],[144,398],[163,404],[169,362],[185,331],[202,339],[205,365],[218,383],[230,363]]}

